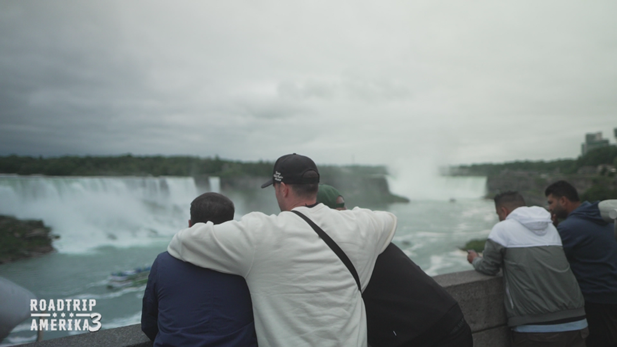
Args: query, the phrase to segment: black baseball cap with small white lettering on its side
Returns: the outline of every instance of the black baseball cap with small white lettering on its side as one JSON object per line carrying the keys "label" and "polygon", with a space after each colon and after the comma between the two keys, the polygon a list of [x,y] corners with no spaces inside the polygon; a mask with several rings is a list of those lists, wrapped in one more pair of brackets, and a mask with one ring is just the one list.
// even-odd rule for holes
{"label": "black baseball cap with small white lettering on its side", "polygon": [[[304,177],[304,174],[309,171],[315,171],[317,177]],[[319,183],[319,171],[313,159],[296,153],[286,154],[276,159],[274,169],[272,170],[272,178],[268,182],[263,183],[262,188],[275,182],[284,182],[292,185]]]}

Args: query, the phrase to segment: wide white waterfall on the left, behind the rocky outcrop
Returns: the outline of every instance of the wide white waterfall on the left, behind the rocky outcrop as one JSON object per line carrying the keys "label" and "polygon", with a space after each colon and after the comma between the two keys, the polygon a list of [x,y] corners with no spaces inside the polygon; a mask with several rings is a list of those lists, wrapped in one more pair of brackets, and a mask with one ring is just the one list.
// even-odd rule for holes
{"label": "wide white waterfall on the left, behind the rocky outcrop", "polygon": [[151,243],[186,227],[191,177],[0,175],[0,214],[42,219],[62,253]]}

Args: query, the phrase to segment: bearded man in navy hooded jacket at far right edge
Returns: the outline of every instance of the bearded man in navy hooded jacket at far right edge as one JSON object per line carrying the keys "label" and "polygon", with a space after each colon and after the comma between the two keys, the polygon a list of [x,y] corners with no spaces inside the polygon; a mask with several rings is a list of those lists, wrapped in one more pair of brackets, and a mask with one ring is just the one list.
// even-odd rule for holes
{"label": "bearded man in navy hooded jacket at far right edge", "polygon": [[598,201],[581,203],[576,188],[568,182],[555,182],[544,193],[563,251],[585,298],[587,346],[617,346],[615,227],[602,219]]}

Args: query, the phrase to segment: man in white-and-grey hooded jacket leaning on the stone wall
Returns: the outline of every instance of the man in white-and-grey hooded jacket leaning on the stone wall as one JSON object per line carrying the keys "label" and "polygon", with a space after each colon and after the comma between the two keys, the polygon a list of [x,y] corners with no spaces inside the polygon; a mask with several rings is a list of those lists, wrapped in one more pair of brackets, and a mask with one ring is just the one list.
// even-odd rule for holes
{"label": "man in white-and-grey hooded jacket leaning on the stone wall", "polygon": [[513,346],[585,346],[589,335],[581,289],[569,268],[550,213],[526,207],[521,194],[495,196],[500,222],[483,256],[467,260],[482,274],[503,269],[505,310]]}

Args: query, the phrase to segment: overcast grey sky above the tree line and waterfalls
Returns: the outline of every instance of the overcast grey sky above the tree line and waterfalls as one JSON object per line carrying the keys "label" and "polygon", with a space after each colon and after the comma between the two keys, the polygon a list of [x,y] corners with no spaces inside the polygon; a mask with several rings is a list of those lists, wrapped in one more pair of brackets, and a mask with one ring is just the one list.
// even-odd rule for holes
{"label": "overcast grey sky above the tree line and waterfalls", "polygon": [[615,1],[0,0],[0,155],[318,164],[615,143]]}

